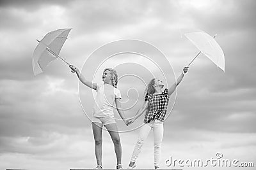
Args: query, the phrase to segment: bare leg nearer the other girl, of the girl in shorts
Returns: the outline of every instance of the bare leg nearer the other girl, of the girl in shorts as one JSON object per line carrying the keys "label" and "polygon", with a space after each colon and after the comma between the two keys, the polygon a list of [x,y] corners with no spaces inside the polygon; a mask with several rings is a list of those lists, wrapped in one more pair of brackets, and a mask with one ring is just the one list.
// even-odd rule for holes
{"label": "bare leg nearer the other girl, of the girl in shorts", "polygon": [[[120,137],[118,134],[118,129],[116,124],[108,124],[105,125],[106,129],[108,129],[108,132],[111,136],[111,139],[114,143],[115,146],[115,153],[116,153],[116,164],[121,165],[122,162],[122,146],[120,142]],[[118,166],[117,168],[119,169],[122,166]]]}

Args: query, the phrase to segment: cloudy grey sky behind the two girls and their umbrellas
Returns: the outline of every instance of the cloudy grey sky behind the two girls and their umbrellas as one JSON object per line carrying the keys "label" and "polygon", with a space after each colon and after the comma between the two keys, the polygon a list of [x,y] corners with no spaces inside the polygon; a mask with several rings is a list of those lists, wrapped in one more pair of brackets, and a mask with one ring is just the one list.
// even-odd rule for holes
{"label": "cloudy grey sky behind the two girls and their umbrellas", "polygon": [[[172,65],[173,69],[164,65],[163,56],[152,53],[170,85],[174,81],[173,71],[179,75],[198,52],[181,36],[181,30],[217,33],[216,41],[225,53],[226,71],[223,73],[204,55],[193,62],[177,89],[172,113],[164,122],[161,167],[170,169],[164,164],[170,156],[204,161],[216,159],[217,152],[223,154],[223,159],[253,162],[256,166],[255,8],[253,0],[0,1],[0,169],[96,166],[92,127],[86,116],[91,114],[92,90],[80,85],[59,59],[44,73],[33,75],[36,39],[61,28],[72,31],[60,55],[83,68],[84,76],[92,79],[95,74],[95,80],[99,80],[103,66],[113,67],[113,62],[120,76],[138,75],[124,76],[118,86],[124,106],[136,104],[125,111],[127,117],[134,115],[143,103],[140,80],[149,81],[149,73],[158,75],[159,70],[147,63],[145,57],[134,54],[115,56],[99,67],[97,56],[94,60],[90,58],[93,51],[118,39],[150,43]],[[149,48],[146,49],[148,53],[144,52],[150,55]],[[84,68],[86,59],[91,60]],[[172,96],[170,108],[174,100]],[[131,127],[141,122],[142,118]],[[131,129],[121,123],[118,127],[122,131]],[[120,133],[124,167],[129,164],[138,132],[137,129]],[[103,166],[114,168],[115,153],[108,132],[103,131],[103,138]],[[150,134],[138,158],[138,168],[153,167],[153,150]]]}

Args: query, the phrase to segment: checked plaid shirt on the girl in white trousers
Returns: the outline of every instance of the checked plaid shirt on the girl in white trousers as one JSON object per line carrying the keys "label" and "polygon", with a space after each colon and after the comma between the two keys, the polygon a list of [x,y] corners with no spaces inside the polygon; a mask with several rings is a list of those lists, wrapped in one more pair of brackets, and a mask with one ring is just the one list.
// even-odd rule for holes
{"label": "checked plaid shirt on the girl in white trousers", "polygon": [[149,105],[143,122],[149,123],[155,119],[164,122],[169,98],[168,89],[164,89],[161,94],[147,94],[145,101],[148,101]]}

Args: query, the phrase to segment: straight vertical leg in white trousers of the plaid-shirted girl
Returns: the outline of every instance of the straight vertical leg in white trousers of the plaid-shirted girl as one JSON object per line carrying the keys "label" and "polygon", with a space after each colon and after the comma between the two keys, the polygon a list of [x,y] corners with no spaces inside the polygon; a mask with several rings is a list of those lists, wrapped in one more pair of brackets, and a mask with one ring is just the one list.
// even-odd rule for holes
{"label": "straight vertical leg in white trousers of the plaid-shirted girl", "polygon": [[161,143],[162,143],[163,134],[164,134],[163,122],[160,122],[159,120],[155,120],[153,133],[154,133],[154,166],[155,166],[155,169],[157,169],[160,163]]}

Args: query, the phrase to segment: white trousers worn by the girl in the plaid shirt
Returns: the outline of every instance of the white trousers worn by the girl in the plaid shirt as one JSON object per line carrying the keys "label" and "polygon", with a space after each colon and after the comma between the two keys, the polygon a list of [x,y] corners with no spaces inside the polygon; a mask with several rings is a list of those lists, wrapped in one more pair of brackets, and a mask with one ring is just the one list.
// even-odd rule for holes
{"label": "white trousers worn by the girl in the plaid shirt", "polygon": [[144,124],[141,127],[138,141],[132,153],[131,162],[136,162],[136,159],[138,158],[138,155],[141,152],[143,142],[147,138],[151,129],[153,129],[153,133],[154,133],[154,166],[159,167],[161,143],[162,143],[163,134],[164,134],[164,124],[159,120],[152,120],[151,122]]}

